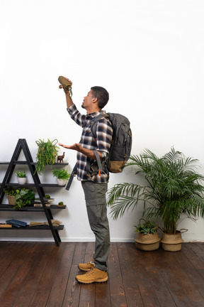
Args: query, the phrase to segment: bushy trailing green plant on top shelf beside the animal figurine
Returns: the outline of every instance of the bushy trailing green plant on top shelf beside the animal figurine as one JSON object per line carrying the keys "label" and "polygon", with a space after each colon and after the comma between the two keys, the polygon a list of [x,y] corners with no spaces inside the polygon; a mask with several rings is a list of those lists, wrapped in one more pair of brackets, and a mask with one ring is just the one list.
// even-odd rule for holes
{"label": "bushy trailing green plant on top shelf beside the animal figurine", "polygon": [[57,156],[57,151],[60,149],[57,144],[57,139],[54,141],[50,141],[47,139],[47,142],[41,139],[39,141],[35,141],[38,145],[38,153],[36,156],[36,166],[35,172],[38,171],[39,175],[45,173],[45,166],[47,164],[54,164],[55,158]]}

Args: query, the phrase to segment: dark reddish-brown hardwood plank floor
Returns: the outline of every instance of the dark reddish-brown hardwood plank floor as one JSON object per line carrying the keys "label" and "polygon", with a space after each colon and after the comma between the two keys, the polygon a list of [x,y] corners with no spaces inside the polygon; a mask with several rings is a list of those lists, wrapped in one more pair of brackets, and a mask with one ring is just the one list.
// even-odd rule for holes
{"label": "dark reddish-brown hardwood plank floor", "polygon": [[112,243],[108,282],[78,284],[94,242],[0,242],[1,307],[204,306],[204,243],[142,252]]}

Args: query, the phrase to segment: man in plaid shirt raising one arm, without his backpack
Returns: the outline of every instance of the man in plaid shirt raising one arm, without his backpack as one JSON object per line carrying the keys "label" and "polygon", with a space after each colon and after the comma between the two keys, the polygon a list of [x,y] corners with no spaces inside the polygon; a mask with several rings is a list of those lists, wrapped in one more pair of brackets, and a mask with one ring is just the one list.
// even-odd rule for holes
{"label": "man in plaid shirt raising one arm, without his backpack", "polygon": [[[69,79],[67,79],[69,80]],[[71,82],[69,80],[69,82]],[[71,82],[72,83],[72,82]],[[107,117],[102,117],[96,123],[96,139],[91,133],[91,119],[98,114],[105,114],[103,107],[108,102],[109,95],[103,87],[91,87],[88,95],[84,97],[81,105],[86,109],[86,115],[82,115],[69,96],[69,90],[64,90],[67,100],[67,111],[70,117],[83,128],[81,140],[74,145],[63,145],[66,149],[77,151],[77,179],[81,181],[86,200],[86,210],[89,217],[91,230],[96,237],[94,259],[87,264],[79,264],[81,271],[86,274],[76,276],[78,282],[91,284],[108,280],[107,259],[110,249],[110,233],[106,208],[106,192],[108,189],[109,174],[99,173],[94,176],[87,171],[87,162],[94,163],[97,151],[101,162],[107,160],[111,147],[113,129]]]}

